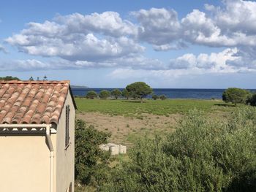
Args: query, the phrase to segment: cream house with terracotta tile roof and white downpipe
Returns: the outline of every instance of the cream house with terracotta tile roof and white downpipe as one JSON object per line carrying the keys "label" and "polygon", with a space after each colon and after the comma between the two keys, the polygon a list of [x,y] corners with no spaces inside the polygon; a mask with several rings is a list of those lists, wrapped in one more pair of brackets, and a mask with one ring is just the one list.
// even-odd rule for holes
{"label": "cream house with terracotta tile roof and white downpipe", "polygon": [[74,191],[69,81],[0,82],[0,191]]}

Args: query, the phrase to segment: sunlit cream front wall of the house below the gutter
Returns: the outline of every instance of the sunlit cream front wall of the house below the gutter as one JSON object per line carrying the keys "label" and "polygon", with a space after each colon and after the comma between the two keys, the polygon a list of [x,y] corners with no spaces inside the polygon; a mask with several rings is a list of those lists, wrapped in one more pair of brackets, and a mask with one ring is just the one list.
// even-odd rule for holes
{"label": "sunlit cream front wall of the house below the gutter", "polygon": [[[56,135],[51,137],[56,149]],[[45,134],[0,135],[0,155],[1,192],[49,191],[50,153]]]}

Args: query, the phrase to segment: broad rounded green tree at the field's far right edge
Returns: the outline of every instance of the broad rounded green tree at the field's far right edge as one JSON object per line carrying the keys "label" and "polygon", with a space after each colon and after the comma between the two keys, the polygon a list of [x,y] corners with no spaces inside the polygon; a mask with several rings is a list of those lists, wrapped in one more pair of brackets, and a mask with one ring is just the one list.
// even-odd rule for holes
{"label": "broad rounded green tree at the field's far right edge", "polygon": [[222,93],[222,100],[225,102],[231,102],[232,104],[246,103],[246,100],[250,96],[250,92],[241,88],[227,88]]}

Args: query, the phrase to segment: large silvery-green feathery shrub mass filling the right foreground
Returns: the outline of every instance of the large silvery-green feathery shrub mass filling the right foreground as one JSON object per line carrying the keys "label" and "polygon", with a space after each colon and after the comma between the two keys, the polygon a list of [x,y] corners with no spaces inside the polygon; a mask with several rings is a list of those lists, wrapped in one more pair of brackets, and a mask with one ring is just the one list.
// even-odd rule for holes
{"label": "large silvery-green feathery shrub mass filling the right foreground", "polygon": [[140,139],[102,191],[255,191],[256,110],[227,121],[194,110],[167,138]]}

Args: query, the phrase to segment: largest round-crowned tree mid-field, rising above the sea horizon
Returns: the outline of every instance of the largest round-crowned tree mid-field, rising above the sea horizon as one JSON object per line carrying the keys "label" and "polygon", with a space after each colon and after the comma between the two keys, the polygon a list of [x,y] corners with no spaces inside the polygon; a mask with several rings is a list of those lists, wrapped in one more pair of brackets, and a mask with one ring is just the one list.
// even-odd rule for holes
{"label": "largest round-crowned tree mid-field, rising above the sea horizon", "polygon": [[152,93],[152,88],[147,85],[145,82],[134,82],[130,85],[127,85],[127,91],[134,94],[142,102],[143,97],[146,97],[148,94]]}

